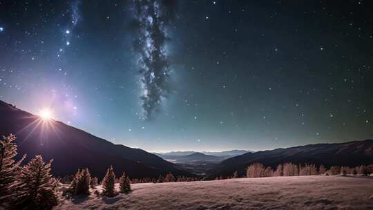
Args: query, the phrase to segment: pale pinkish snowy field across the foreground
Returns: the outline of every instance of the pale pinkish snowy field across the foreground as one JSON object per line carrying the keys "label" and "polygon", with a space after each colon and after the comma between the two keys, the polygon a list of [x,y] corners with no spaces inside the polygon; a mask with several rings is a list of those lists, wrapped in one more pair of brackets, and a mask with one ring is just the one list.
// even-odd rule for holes
{"label": "pale pinkish snowy field across the foreground", "polygon": [[372,177],[240,178],[132,188],[114,198],[91,193],[61,200],[55,209],[373,209]]}

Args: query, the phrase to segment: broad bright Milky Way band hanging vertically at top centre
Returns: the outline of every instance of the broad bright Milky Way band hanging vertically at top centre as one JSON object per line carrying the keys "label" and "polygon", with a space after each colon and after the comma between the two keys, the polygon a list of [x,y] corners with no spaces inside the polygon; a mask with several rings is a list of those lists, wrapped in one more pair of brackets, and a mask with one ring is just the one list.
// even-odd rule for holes
{"label": "broad bright Milky Way band hanging vertically at top centre", "polygon": [[171,66],[166,52],[167,27],[172,19],[169,1],[134,1],[138,38],[141,99],[144,120],[154,117],[170,92]]}

